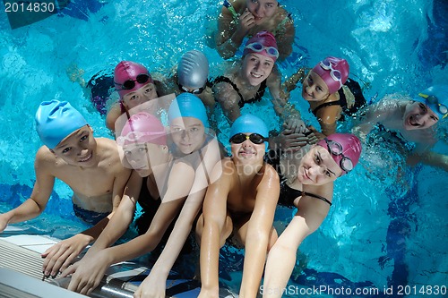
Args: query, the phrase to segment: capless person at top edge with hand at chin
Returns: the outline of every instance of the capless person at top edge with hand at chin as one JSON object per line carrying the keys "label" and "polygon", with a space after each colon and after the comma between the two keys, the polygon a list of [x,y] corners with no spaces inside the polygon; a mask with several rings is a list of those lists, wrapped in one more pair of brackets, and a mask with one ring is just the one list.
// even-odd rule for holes
{"label": "capless person at top edge with hand at chin", "polygon": [[261,30],[271,31],[279,44],[279,59],[292,53],[296,30],[290,14],[277,0],[224,0],[215,35],[224,59],[233,57],[244,38]]}

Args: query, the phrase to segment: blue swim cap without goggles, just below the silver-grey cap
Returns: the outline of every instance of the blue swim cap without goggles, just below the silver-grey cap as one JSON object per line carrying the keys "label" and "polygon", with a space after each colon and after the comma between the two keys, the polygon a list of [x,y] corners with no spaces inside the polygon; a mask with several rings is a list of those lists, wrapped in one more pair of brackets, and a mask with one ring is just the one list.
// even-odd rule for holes
{"label": "blue swim cap without goggles, just below the silver-grey cap", "polygon": [[209,119],[202,100],[191,93],[181,93],[168,108],[168,123],[178,117],[194,117],[202,121],[204,127],[209,127]]}

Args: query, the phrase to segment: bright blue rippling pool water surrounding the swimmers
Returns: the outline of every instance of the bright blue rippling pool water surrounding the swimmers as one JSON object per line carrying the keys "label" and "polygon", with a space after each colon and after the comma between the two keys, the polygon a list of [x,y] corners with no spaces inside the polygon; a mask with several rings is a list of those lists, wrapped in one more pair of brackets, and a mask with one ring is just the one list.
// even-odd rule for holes
{"label": "bright blue rippling pool water surrounding the swimmers", "polygon": [[[336,55],[348,59],[353,78],[363,81],[366,98],[397,91],[412,94],[447,83],[444,0],[281,3],[297,27],[294,53],[280,64],[285,77],[299,66]],[[219,9],[220,3],[211,0],[77,0],[56,15],[15,30],[0,13],[0,212],[30,195],[34,154],[40,146],[33,119],[40,101],[69,100],[97,136],[109,136],[104,119],[79,84],[69,80],[71,65],[84,71],[86,81],[126,59],[168,75],[185,51],[196,48],[208,56],[214,77],[222,60],[205,37]],[[299,89],[292,92],[292,100],[304,118],[317,125],[298,98]],[[245,109],[263,115],[271,126],[277,121],[268,100]],[[225,131],[226,124],[221,126]],[[446,140],[435,150],[448,153]],[[334,204],[323,226],[300,246],[287,296],[327,285],[336,291],[379,290],[359,297],[386,296],[385,288],[392,288],[390,297],[402,296],[402,286],[402,294],[422,297],[426,295],[413,291],[447,284],[448,175],[434,167],[404,164],[393,141],[379,138],[365,147],[360,166],[336,183]],[[64,183],[56,183],[45,214],[22,226],[61,238],[81,231],[85,226],[73,217],[70,196]],[[279,209],[277,217],[286,221],[291,216],[292,210]],[[229,260],[221,266],[222,282],[237,289],[242,256],[232,250],[224,253]]]}

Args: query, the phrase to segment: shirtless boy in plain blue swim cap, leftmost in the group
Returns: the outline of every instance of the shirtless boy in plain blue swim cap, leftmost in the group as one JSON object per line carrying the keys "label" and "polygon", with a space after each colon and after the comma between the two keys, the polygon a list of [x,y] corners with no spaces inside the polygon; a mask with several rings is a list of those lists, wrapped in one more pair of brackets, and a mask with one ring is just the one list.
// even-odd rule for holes
{"label": "shirtless boy in plain blue swim cap, leftmost in the group", "polygon": [[[42,254],[44,275],[56,277],[106,226],[123,195],[130,170],[120,162],[114,140],[94,138],[84,117],[66,101],[42,102],[36,113],[42,146],[35,158],[36,183],[30,199],[0,215],[6,225],[38,217],[47,206],[56,178],[73,190],[73,209],[92,225]],[[104,220],[103,220],[104,218]]]}

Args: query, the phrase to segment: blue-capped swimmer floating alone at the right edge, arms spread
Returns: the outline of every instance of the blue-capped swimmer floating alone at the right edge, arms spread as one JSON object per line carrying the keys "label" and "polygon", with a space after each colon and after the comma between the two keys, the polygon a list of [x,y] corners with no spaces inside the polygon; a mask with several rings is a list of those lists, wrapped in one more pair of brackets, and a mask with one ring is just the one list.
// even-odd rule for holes
{"label": "blue-capped swimmer floating alone at the right edge, arms spread", "polygon": [[379,124],[385,130],[398,132],[403,140],[416,144],[409,162],[419,160],[448,170],[448,157],[429,150],[437,142],[434,125],[447,115],[448,85],[435,85],[415,98],[391,95],[368,106],[353,132],[366,140],[366,135]]}

